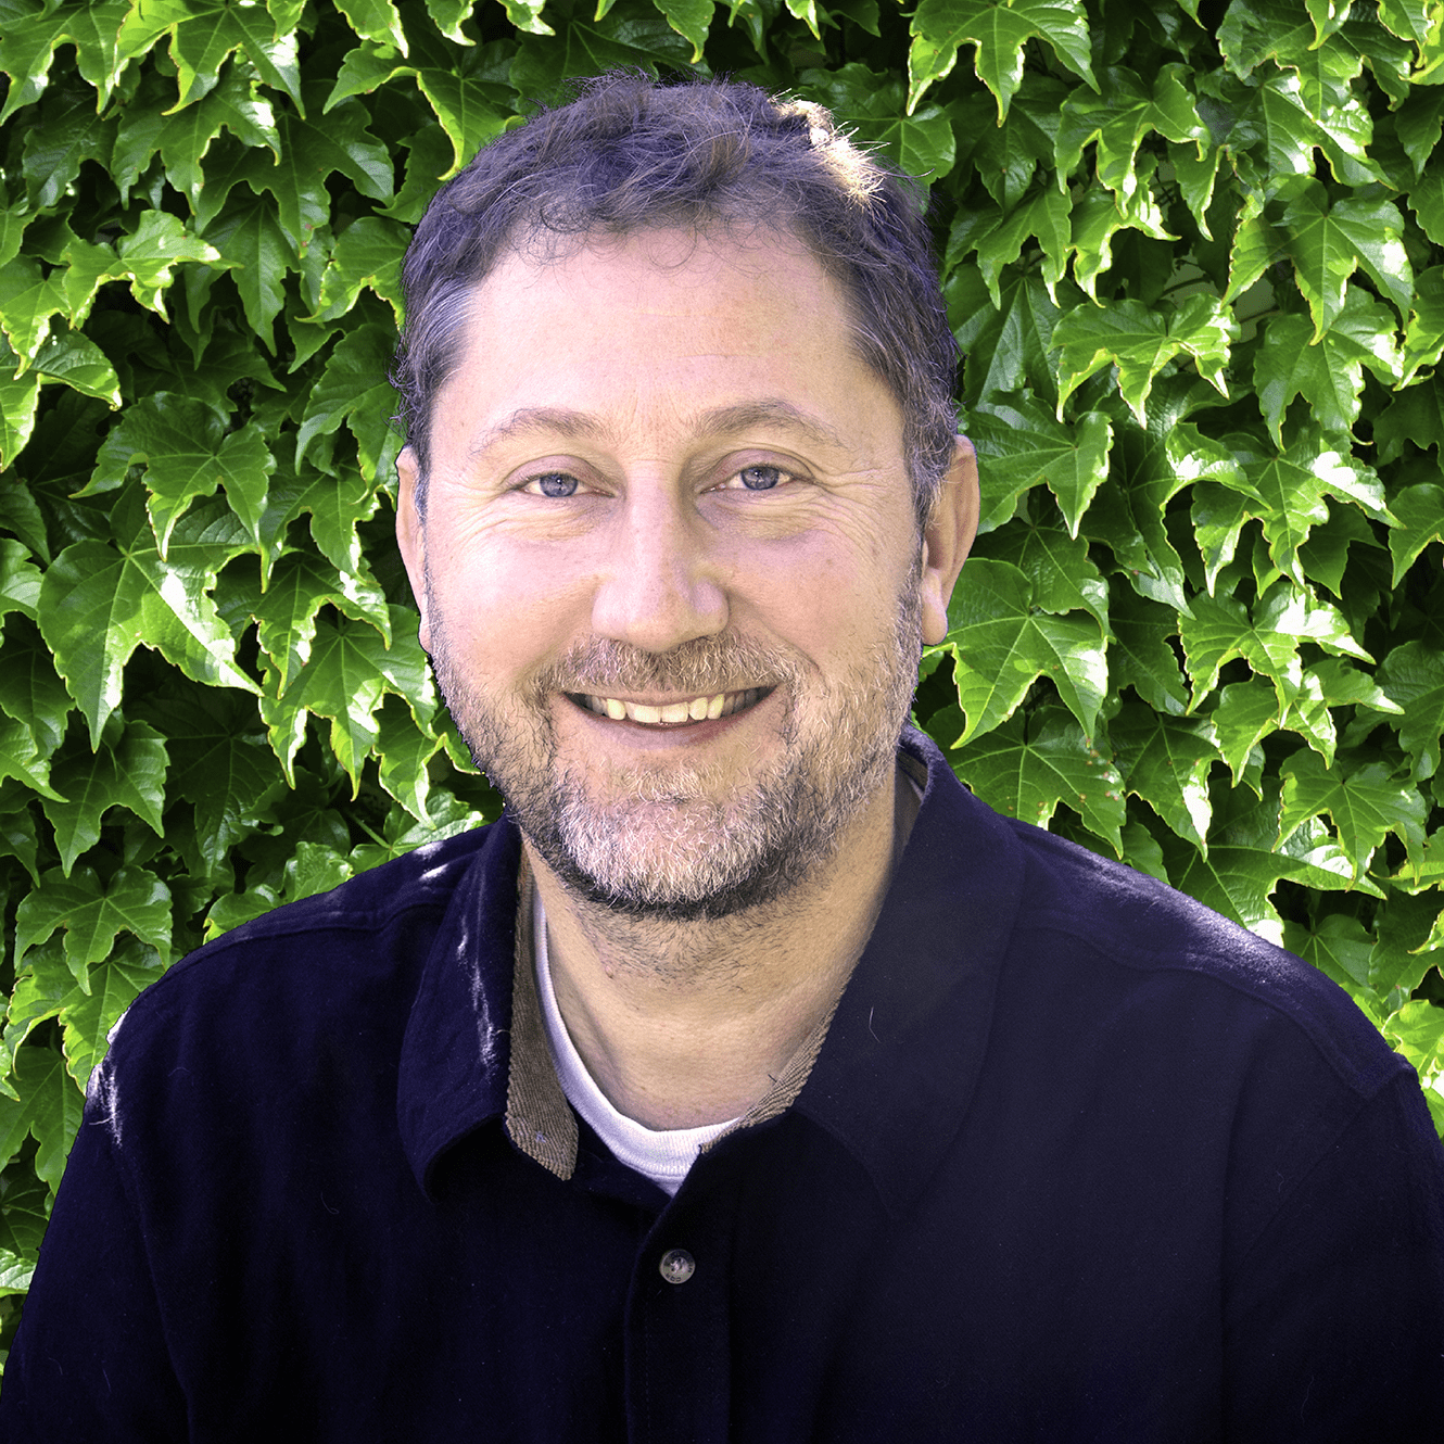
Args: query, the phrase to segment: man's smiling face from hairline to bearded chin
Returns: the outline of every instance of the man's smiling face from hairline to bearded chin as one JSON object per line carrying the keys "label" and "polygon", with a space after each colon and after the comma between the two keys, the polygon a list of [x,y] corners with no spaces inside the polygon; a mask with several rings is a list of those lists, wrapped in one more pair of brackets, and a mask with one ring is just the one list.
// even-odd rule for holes
{"label": "man's smiling face from hairline to bearded chin", "polygon": [[937,586],[898,406],[796,243],[511,257],[436,400],[425,524],[410,452],[401,479],[442,692],[582,895],[768,901],[890,783]]}

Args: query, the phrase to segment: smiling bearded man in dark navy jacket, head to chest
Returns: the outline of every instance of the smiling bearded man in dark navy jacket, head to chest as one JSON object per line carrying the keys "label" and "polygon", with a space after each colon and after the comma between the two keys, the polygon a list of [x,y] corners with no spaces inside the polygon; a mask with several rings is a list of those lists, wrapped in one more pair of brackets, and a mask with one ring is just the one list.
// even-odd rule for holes
{"label": "smiling bearded man in dark navy jacket, head to chest", "polygon": [[507,814],[136,1004],[12,1437],[1441,1437],[1412,1070],[905,728],[978,491],[898,180],[608,77],[406,284],[400,544]]}

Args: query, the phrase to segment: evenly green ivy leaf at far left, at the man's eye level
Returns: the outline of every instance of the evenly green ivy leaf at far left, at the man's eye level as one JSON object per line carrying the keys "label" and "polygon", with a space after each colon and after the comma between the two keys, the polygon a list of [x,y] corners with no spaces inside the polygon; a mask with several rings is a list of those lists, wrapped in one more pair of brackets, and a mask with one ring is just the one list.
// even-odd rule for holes
{"label": "evenly green ivy leaf at far left, at the man's eye level", "polygon": [[146,510],[165,560],[170,533],[202,497],[225,488],[231,510],[260,542],[267,478],[276,469],[260,429],[251,423],[227,435],[225,420],[208,403],[156,391],[127,409],[101,443],[87,491],[120,487],[131,466],[144,465]]}

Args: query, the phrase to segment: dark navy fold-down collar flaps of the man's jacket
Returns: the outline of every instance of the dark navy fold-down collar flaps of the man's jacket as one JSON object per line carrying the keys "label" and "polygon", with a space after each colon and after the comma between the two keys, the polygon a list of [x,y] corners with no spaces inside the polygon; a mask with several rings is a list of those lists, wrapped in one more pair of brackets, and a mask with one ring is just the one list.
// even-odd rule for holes
{"label": "dark navy fold-down collar flaps of the man's jacket", "polygon": [[[810,1071],[787,1097],[864,1164],[894,1212],[923,1187],[962,1122],[1022,894],[1011,827],[962,787],[937,747],[910,728],[898,760],[924,787],[917,820],[820,1053],[816,1043],[807,1050]],[[537,1030],[514,1038],[521,871],[520,833],[503,814],[452,895],[412,1006],[397,1118],[427,1190],[443,1151],[508,1118],[513,1043],[544,1047]],[[552,1102],[565,1109],[559,1086]],[[565,1160],[559,1167],[524,1151],[570,1174]]]}

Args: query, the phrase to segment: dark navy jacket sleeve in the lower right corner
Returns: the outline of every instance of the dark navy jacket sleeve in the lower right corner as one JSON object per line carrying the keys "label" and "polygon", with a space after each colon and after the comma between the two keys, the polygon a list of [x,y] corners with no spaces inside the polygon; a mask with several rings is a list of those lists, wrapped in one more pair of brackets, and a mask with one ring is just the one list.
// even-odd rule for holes
{"label": "dark navy jacket sleeve in the lower right corner", "polygon": [[1444,1440],[1444,1149],[1412,1071],[1230,1269],[1229,1440]]}

